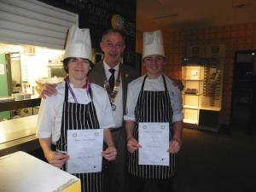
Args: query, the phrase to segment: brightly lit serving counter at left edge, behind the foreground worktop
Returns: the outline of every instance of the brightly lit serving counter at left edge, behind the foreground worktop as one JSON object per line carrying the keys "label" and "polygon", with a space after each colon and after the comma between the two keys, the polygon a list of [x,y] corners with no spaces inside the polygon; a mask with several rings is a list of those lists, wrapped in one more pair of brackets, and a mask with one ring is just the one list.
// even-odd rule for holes
{"label": "brightly lit serving counter at left edge, behind the foreground worktop", "polygon": [[36,138],[38,115],[0,122],[0,156],[39,148]]}

